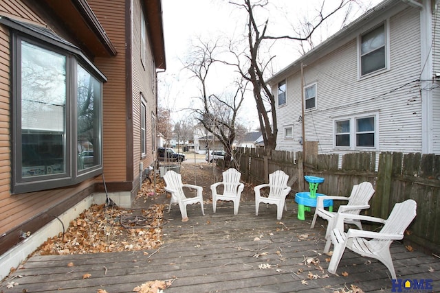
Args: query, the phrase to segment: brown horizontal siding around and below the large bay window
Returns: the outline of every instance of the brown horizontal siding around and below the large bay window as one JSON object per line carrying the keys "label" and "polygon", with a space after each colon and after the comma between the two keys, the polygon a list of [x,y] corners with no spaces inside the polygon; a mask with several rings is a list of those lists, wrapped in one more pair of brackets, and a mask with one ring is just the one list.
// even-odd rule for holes
{"label": "brown horizontal siding around and below the large bay window", "polygon": [[[42,23],[20,1],[0,1],[0,15],[14,16]],[[20,231],[36,230],[85,198],[94,188],[94,181],[63,189],[28,194],[10,194],[10,38],[8,28],[0,25],[0,255],[21,241]]]}

